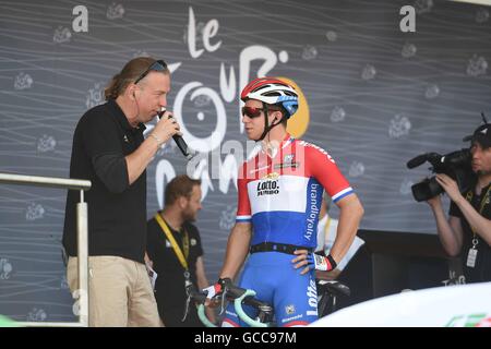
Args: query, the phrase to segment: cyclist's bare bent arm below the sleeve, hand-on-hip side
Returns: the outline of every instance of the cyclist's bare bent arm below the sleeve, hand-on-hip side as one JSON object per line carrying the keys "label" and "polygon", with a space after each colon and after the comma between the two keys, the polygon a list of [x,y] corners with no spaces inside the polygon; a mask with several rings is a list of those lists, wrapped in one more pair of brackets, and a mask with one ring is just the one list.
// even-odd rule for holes
{"label": "cyclist's bare bent arm below the sleeve, hand-on-hip side", "polygon": [[364,210],[355,193],[343,197],[336,205],[339,207],[339,222],[331,255],[339,263],[355,240]]}

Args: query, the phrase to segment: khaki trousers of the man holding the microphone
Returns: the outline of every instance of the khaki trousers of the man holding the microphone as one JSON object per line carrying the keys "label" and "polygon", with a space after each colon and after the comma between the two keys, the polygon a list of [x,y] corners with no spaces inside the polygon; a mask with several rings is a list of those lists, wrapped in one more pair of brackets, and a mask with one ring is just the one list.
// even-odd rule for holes
{"label": "khaki trousers of the man holding the microphone", "polygon": [[[79,288],[77,258],[70,257],[67,280]],[[91,327],[158,327],[157,302],[145,265],[119,256],[88,257],[88,325]]]}

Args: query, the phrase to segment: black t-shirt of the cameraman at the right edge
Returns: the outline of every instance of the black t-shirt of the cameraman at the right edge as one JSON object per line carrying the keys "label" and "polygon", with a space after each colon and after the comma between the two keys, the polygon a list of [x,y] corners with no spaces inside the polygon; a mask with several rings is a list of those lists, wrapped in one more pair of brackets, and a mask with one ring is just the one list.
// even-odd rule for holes
{"label": "black t-shirt of the cameraman at the right edge", "polygon": [[[488,192],[491,183],[488,184],[488,186],[483,188],[480,195],[476,195],[476,192],[472,193],[472,200],[470,204],[478,213],[481,209],[481,201],[484,200],[486,193]],[[472,188],[475,188],[475,185],[472,185]],[[464,194],[464,196],[466,196],[466,194]],[[491,219],[491,203],[487,203],[482,207],[483,208],[481,216],[483,216],[487,219]],[[476,249],[478,250],[476,265],[475,267],[467,266],[467,255],[469,253],[469,249],[472,248],[472,239],[474,239],[472,229],[470,228],[469,224],[467,222],[467,219],[465,218],[465,216],[454,202],[451,203],[448,214],[451,216],[460,218],[462,228],[464,230],[464,241],[460,251],[460,258],[463,261],[463,270],[464,276],[466,277],[466,282],[491,281],[491,246],[483,239],[481,239],[479,234],[476,234],[476,239],[478,241],[478,244],[476,245]]]}

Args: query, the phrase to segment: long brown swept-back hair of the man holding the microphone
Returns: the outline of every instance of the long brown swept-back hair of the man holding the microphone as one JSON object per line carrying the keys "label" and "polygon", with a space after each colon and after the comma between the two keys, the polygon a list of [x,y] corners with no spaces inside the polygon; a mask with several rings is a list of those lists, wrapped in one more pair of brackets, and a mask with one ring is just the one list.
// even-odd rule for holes
{"label": "long brown swept-back hair of the man holding the microphone", "polygon": [[[112,76],[111,81],[104,89],[106,100],[116,99],[118,96],[122,95],[128,85],[134,83],[134,81],[155,62],[156,60],[149,57],[137,57],[124,64],[123,69]],[[169,74],[168,70],[163,72]]]}

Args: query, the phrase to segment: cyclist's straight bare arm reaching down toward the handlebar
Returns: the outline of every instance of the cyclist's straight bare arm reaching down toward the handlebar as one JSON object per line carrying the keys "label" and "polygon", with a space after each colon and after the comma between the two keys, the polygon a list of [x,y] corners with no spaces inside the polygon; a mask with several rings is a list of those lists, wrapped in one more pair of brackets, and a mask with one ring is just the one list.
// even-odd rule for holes
{"label": "cyclist's straight bare arm reaching down toward the handlebar", "polygon": [[242,267],[249,253],[249,245],[252,237],[251,222],[236,222],[228,237],[225,262],[221,267],[220,278],[229,277],[233,279]]}

